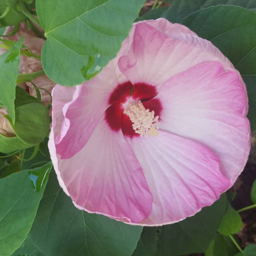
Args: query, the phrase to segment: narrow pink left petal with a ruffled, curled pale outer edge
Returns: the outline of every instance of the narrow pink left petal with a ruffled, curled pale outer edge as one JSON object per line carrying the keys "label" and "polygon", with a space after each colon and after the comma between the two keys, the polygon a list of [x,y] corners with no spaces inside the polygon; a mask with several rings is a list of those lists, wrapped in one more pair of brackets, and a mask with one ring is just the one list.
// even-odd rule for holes
{"label": "narrow pink left petal with a ruffled, curled pale outer edge", "polygon": [[[61,131],[55,137],[56,151],[62,159],[79,152],[109,107],[109,97],[118,84],[127,79],[117,70],[116,60],[111,61],[96,77],[75,87],[72,101],[63,107],[64,120],[57,126]],[[60,87],[54,89],[53,95]],[[65,94],[73,88],[65,87]]]}

